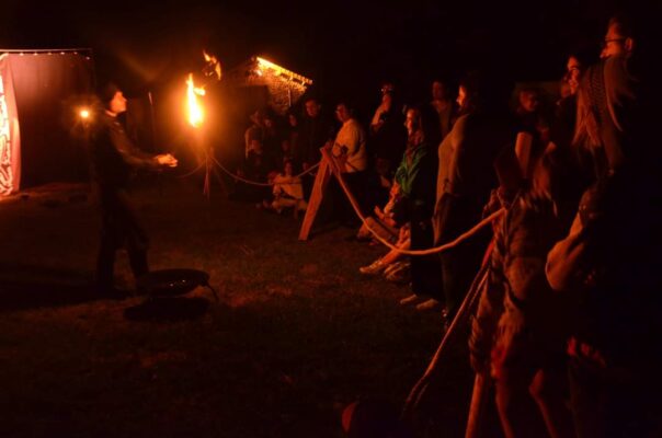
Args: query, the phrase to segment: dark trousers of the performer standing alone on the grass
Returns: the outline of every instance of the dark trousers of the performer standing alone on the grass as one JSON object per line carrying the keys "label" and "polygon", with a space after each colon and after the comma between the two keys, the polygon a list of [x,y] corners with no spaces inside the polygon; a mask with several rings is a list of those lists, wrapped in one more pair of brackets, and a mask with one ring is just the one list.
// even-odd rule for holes
{"label": "dark trousers of the performer standing alone on the grass", "polygon": [[129,196],[124,188],[100,191],[102,229],[101,245],[96,258],[96,281],[113,286],[115,253],[126,247],[135,278],[147,274],[147,247],[149,240],[140,224]]}

